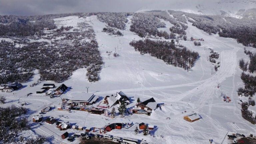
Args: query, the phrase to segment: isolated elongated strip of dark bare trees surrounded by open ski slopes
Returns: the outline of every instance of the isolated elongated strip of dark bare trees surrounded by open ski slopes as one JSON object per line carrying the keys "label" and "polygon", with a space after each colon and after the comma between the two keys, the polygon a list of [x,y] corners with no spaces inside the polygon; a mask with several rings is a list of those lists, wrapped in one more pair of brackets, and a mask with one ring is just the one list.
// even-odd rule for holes
{"label": "isolated elongated strip of dark bare trees surrounded by open ski slopes", "polygon": [[135,51],[141,54],[150,54],[153,57],[162,59],[167,64],[189,70],[194,66],[199,54],[192,52],[186,47],[176,46],[174,42],[153,41],[150,39],[131,41],[130,46],[133,46]]}

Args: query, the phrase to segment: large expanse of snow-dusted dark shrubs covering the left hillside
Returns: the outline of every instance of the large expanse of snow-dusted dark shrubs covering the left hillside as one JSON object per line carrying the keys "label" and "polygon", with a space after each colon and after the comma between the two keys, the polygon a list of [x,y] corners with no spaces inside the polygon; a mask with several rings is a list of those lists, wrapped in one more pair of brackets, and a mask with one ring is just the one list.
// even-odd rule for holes
{"label": "large expanse of snow-dusted dark shrubs covering the left hillside", "polygon": [[[0,83],[25,82],[33,76],[34,69],[39,70],[40,80],[62,82],[78,68],[92,64],[101,65],[103,62],[92,27],[84,22],[78,23],[78,27],[80,31],[65,31],[72,28],[68,26],[61,27],[59,31],[49,31],[44,36],[36,36],[37,39],[55,39],[51,43],[33,42],[33,40],[30,42],[25,36],[19,39],[12,37],[14,43],[1,41]],[[24,46],[15,47],[15,44]],[[88,75],[96,76],[92,73]],[[90,81],[98,80],[93,79]]]}

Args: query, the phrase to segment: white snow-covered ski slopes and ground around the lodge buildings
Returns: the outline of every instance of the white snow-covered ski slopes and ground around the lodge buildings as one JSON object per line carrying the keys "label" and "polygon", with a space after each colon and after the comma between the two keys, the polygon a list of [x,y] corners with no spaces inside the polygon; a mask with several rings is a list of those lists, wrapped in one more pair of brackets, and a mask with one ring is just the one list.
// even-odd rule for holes
{"label": "white snow-covered ski slopes and ground around the lodge buildings", "polygon": [[[97,20],[96,16],[90,16],[86,19],[78,17],[58,18],[58,27],[73,26],[76,27],[78,22],[86,21],[94,29],[96,39],[99,45],[99,51],[105,62],[104,68],[100,73],[100,81],[89,83],[86,78],[86,69],[76,70],[70,79],[64,82],[72,89],[60,97],[50,99],[46,96],[29,96],[27,93],[35,93],[43,83],[30,87],[29,85],[39,79],[39,75],[35,75],[34,79],[25,83],[25,88],[15,91],[14,93],[1,93],[7,96],[9,103],[1,106],[9,106],[11,104],[18,105],[18,101],[29,102],[25,107],[30,108],[30,116],[28,118],[32,125],[32,130],[37,134],[41,134],[56,143],[70,143],[62,140],[60,135],[65,131],[59,131],[55,125],[43,123],[42,125],[32,122],[32,117],[46,106],[56,106],[44,116],[53,116],[63,121],[69,121],[71,124],[81,125],[84,127],[104,127],[108,123],[114,122],[134,122],[148,123],[157,126],[152,132],[153,136],[143,136],[142,133],[135,134],[133,131],[137,124],[130,129],[112,130],[108,134],[120,137],[131,137],[144,139],[153,143],[163,144],[205,144],[209,139],[213,139],[216,144],[220,144],[228,131],[238,131],[244,133],[255,132],[254,125],[241,117],[238,108],[238,97],[236,90],[242,86],[240,79],[241,70],[238,67],[240,58],[247,57],[243,53],[241,44],[231,38],[222,38],[218,35],[208,35],[202,30],[192,26],[188,22],[187,37],[203,38],[202,46],[194,46],[191,41],[180,41],[188,49],[197,51],[200,58],[196,61],[195,66],[189,71],[182,68],[165,64],[162,60],[151,57],[148,54],[141,55],[130,47],[129,42],[132,40],[142,39],[135,33],[129,31],[130,18],[127,23],[128,30],[122,30],[123,37],[110,36],[102,32],[105,23]],[[169,29],[171,25],[167,25]],[[106,51],[116,52],[119,57],[108,57]],[[208,48],[220,54],[220,68],[217,72],[213,69],[208,61]],[[49,83],[49,82],[47,82]],[[220,88],[217,88],[217,85]],[[60,84],[56,84],[57,86]],[[69,96],[71,92],[86,91],[95,93],[98,96],[106,96],[123,91],[127,96],[136,100],[140,97],[141,101],[154,97],[159,103],[165,103],[162,110],[155,110],[151,116],[134,114],[129,117],[105,120],[107,117],[103,115],[89,114],[83,111],[58,111],[57,105],[63,96]],[[230,103],[223,102],[220,93],[223,92],[231,98]],[[135,101],[127,107],[135,105]],[[184,111],[187,111],[184,113]],[[183,113],[182,113],[183,112]],[[188,113],[197,112],[202,119],[190,123],[183,120],[183,116]],[[63,115],[63,116],[62,116]],[[170,117],[166,119],[166,117]],[[235,125],[233,124],[235,123]],[[69,133],[81,133],[76,130],[69,129]],[[160,136],[163,136],[161,138]],[[73,143],[79,143],[78,140]]]}

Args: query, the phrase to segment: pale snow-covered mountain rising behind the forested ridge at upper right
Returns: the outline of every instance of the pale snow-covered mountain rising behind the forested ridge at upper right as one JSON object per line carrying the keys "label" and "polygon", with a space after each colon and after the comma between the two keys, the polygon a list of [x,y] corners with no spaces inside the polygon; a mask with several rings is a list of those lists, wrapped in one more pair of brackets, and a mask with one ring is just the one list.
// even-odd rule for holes
{"label": "pale snow-covered mountain rising behind the forested ridge at upper right", "polygon": [[139,11],[146,10],[178,10],[203,15],[223,15],[236,18],[255,15],[255,0],[196,0],[196,1],[170,1],[161,0],[144,5]]}

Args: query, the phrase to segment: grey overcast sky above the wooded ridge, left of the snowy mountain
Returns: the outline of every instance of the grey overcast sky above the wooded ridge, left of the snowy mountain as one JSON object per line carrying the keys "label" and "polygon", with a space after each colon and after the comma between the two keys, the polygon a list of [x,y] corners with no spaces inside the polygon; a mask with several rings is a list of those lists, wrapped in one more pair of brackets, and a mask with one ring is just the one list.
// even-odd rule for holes
{"label": "grey overcast sky above the wooded ridge, left of the snowy mountain", "polygon": [[135,12],[150,2],[153,0],[0,0],[0,15]]}

